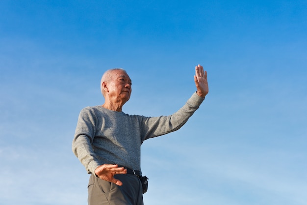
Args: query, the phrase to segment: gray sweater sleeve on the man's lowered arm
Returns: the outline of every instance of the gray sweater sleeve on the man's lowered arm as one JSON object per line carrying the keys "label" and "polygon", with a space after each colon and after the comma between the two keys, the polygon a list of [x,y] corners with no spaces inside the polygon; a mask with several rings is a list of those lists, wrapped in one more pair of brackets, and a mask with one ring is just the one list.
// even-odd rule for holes
{"label": "gray sweater sleeve on the man's lowered arm", "polygon": [[81,110],[75,137],[72,144],[72,150],[80,162],[90,174],[95,174],[95,169],[100,165],[95,158],[92,143],[96,132],[97,117],[90,108]]}

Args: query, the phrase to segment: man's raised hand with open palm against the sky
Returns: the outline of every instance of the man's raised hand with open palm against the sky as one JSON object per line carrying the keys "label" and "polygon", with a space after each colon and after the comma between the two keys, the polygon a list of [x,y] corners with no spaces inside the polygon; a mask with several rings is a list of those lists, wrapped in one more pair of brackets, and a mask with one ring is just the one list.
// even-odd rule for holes
{"label": "man's raised hand with open palm against the sky", "polygon": [[201,97],[205,97],[209,92],[209,88],[207,82],[207,71],[204,72],[203,66],[195,66],[194,81],[197,88],[197,94]]}

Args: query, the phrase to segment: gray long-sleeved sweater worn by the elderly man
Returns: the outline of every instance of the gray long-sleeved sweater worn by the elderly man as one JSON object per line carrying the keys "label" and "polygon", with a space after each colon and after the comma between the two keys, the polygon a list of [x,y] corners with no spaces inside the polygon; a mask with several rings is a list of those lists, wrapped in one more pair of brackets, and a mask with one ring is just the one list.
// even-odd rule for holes
{"label": "gray long-sleeved sweater worn by the elderly man", "polygon": [[78,117],[73,152],[89,174],[102,164],[141,170],[144,140],[178,130],[204,99],[195,92],[179,111],[160,117],[128,115],[102,106],[86,107]]}

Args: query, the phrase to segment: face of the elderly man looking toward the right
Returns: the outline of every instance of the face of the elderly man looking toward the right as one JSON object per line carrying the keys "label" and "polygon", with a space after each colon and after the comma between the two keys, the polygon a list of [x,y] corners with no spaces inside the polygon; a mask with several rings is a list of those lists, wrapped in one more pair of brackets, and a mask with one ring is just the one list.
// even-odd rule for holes
{"label": "face of the elderly man looking toward the right", "polygon": [[127,102],[131,94],[131,79],[123,70],[114,70],[110,73],[111,79],[108,83],[109,97],[116,101]]}

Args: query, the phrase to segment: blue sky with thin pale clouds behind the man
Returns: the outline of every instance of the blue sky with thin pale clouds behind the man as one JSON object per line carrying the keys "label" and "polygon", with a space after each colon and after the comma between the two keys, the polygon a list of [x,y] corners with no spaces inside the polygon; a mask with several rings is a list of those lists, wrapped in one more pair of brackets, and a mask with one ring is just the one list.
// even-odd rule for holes
{"label": "blue sky with thin pale clouds behind the man", "polygon": [[84,205],[77,116],[102,73],[128,71],[123,111],[170,115],[209,94],[179,131],[145,141],[146,205],[306,205],[306,0],[1,0],[0,204]]}

